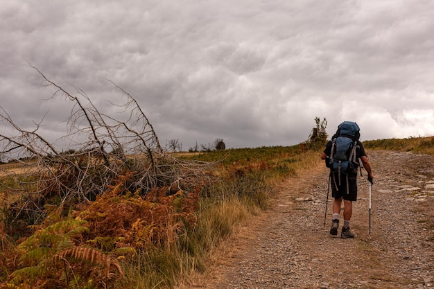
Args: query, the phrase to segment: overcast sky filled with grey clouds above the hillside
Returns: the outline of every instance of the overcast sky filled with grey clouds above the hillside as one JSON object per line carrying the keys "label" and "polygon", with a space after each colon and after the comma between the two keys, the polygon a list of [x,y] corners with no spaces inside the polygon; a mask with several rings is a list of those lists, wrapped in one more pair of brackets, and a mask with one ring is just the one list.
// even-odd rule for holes
{"label": "overcast sky filled with grey clouds above the hillside", "polygon": [[114,82],[163,147],[292,146],[315,117],[362,141],[433,136],[433,15],[431,0],[2,0],[0,106],[66,134],[71,106],[36,67],[107,114]]}

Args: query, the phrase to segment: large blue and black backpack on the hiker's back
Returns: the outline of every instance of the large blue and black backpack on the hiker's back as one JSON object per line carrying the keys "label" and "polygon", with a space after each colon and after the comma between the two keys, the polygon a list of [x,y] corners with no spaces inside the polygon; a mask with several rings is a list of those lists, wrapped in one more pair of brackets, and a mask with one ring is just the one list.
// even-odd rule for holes
{"label": "large blue and black backpack on the hiker's back", "polygon": [[[348,193],[348,174],[357,173],[357,141],[360,137],[360,128],[357,123],[344,121],[338,125],[338,131],[331,139],[331,154],[327,165],[333,173],[333,181],[341,184],[341,176],[345,175],[347,180]],[[338,186],[336,186],[337,188]]]}

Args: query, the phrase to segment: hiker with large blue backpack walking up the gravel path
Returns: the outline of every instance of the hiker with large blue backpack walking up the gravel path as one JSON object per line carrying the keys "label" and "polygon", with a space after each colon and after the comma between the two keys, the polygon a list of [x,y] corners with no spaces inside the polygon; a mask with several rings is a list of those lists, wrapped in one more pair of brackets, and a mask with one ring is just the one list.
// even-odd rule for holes
{"label": "hiker with large blue backpack walking up the gravel path", "polygon": [[[321,159],[326,161],[330,168],[331,196],[333,201],[333,218],[331,222],[331,235],[338,235],[339,215],[342,199],[344,200],[344,225],[340,238],[354,238],[349,229],[349,221],[352,214],[352,202],[357,200],[357,173],[361,159],[363,167],[367,171],[370,182],[374,179],[367,159],[365,148],[361,141],[360,128],[357,123],[344,121],[338,125],[336,134],[326,145]],[[359,168],[361,171],[361,168]],[[362,173],[362,171],[361,171]]]}

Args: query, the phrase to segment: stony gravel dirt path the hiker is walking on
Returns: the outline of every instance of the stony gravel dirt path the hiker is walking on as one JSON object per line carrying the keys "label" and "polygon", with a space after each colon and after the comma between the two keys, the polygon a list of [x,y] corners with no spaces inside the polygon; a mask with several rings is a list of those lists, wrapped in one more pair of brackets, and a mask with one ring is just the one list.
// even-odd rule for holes
{"label": "stony gravel dirt path the hiker is walking on", "polygon": [[225,245],[232,249],[190,288],[434,287],[434,158],[369,155],[376,177],[371,234],[365,176],[358,178],[351,218],[356,238],[339,238],[340,229],[338,236],[329,234],[328,172],[318,166],[281,184],[272,210],[229,240]]}

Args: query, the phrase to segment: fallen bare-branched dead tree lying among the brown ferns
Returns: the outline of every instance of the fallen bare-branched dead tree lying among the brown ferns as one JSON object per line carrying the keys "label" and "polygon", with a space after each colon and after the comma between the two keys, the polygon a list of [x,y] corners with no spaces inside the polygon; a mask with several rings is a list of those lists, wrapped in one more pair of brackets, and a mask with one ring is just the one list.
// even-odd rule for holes
{"label": "fallen bare-branched dead tree lying among the brown ferns", "polygon": [[71,107],[61,139],[73,145],[57,148],[44,137],[40,133],[44,116],[26,130],[0,107],[0,122],[10,132],[0,133],[0,157],[17,159],[22,167],[20,173],[3,173],[13,182],[0,183],[4,199],[14,200],[7,204],[10,220],[36,223],[46,216],[47,203],[62,209],[94,200],[125,173],[132,172],[127,189],[143,195],[162,187],[168,188],[168,194],[189,190],[209,178],[204,170],[209,163],[180,161],[162,149],[137,100],[114,82],[107,80],[125,100],[121,105],[112,103],[123,112],[116,117],[98,110],[83,90],[74,87],[76,95],[71,94],[33,69],[46,87],[54,89],[46,101],[62,100]]}

